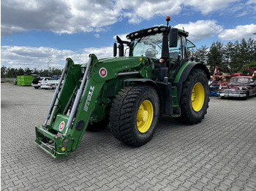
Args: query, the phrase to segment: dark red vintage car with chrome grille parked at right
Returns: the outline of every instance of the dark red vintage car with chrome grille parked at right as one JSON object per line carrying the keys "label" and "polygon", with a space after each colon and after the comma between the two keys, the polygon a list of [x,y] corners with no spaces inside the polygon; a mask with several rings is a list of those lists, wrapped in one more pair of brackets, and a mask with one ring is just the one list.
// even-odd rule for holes
{"label": "dark red vintage car with chrome grille parked at right", "polygon": [[238,76],[232,77],[228,85],[219,85],[217,96],[248,98],[256,95],[256,82],[253,77]]}

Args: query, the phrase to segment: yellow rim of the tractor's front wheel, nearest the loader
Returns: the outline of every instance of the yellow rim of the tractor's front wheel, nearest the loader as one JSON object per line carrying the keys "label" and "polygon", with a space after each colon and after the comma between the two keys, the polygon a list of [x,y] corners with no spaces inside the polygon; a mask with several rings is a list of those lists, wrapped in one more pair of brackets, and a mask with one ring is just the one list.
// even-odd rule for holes
{"label": "yellow rim of the tractor's front wheel, nearest the loader", "polygon": [[151,101],[145,100],[140,105],[137,113],[137,127],[140,133],[146,133],[154,117],[154,108]]}

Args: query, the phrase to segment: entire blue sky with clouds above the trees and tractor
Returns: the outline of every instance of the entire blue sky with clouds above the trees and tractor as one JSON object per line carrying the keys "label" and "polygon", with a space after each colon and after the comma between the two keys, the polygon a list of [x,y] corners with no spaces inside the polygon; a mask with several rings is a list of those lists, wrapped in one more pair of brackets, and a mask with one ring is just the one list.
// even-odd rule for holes
{"label": "entire blue sky with clouds above the trees and tractor", "polygon": [[[256,0],[2,0],[1,66],[62,69],[113,57],[116,35],[184,27],[198,47],[256,39]],[[182,25],[182,26],[181,26]]]}

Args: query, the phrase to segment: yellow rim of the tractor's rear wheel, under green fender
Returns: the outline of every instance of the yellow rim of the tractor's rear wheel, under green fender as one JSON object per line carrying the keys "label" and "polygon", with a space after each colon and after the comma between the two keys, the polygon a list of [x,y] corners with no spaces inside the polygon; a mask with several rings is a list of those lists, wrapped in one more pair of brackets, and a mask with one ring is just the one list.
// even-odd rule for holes
{"label": "yellow rim of the tractor's rear wheel, under green fender", "polygon": [[191,104],[195,112],[199,112],[205,100],[205,90],[200,82],[197,82],[192,90]]}

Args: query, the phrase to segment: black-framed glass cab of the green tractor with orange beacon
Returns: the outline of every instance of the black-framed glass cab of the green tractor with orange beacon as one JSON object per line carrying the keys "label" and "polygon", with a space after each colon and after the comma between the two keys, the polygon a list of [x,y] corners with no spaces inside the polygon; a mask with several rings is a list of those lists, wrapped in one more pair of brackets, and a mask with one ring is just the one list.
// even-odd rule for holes
{"label": "black-framed glass cab of the green tractor with orange beacon", "polygon": [[[169,81],[173,81],[174,74],[179,69],[178,66],[188,61],[188,35],[186,31],[167,25],[132,32],[127,35],[129,42],[122,41],[116,36],[119,43],[119,57],[124,56],[124,44],[127,44],[130,57],[146,56],[149,59],[154,79],[163,80],[164,77],[168,77]],[[114,56],[116,56],[116,49],[115,43]]]}

